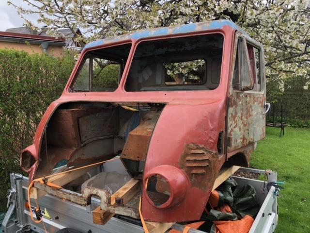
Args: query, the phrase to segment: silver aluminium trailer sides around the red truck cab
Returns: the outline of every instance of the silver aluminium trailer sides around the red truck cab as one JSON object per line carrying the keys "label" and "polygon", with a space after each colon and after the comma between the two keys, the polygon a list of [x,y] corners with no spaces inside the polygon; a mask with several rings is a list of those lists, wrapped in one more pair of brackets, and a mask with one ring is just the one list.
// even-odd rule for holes
{"label": "silver aluminium trailer sides around the red truck cab", "polygon": [[[241,170],[264,174],[264,170],[240,168]],[[269,182],[277,181],[276,172],[267,172],[268,182],[248,178],[235,177],[238,185],[252,185],[259,197],[261,208],[256,216],[249,233],[273,233],[278,224],[278,189],[271,186],[262,192],[262,187]],[[45,233],[42,222],[36,224],[31,221],[30,210],[25,208],[27,202],[27,188],[29,180],[20,174],[10,174],[11,189],[8,192],[8,211],[2,222],[4,233],[28,233],[35,231]],[[93,224],[93,209],[100,200],[93,198],[89,206],[80,206],[70,201],[46,195],[38,199],[43,214],[43,221],[49,233],[57,233],[64,228],[75,229],[80,233],[143,233],[139,220],[120,216],[112,217],[106,225]],[[31,211],[34,212],[35,203],[31,202]],[[35,216],[35,215],[34,215]],[[182,231],[183,226],[175,224],[173,229]],[[190,233],[202,231],[190,229]]]}

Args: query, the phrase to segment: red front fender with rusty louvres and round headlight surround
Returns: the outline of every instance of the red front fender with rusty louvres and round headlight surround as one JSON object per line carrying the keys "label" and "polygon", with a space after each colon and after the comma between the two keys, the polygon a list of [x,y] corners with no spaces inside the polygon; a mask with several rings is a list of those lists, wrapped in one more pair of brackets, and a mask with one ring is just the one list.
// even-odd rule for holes
{"label": "red front fender with rusty louvres and round headlight surround", "polygon": [[[146,220],[200,219],[225,161],[225,156],[217,153],[218,134],[225,129],[224,105],[219,101],[165,106],[152,134],[144,166],[141,210]],[[176,200],[170,197],[167,202],[155,205],[149,198],[146,183],[156,172],[169,183],[170,194]]]}

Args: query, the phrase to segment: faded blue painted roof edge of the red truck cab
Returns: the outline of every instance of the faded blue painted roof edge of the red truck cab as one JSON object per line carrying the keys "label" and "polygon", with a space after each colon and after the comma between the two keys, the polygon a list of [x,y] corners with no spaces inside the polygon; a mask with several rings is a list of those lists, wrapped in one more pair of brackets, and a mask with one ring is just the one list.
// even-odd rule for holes
{"label": "faded blue painted roof edge of the red truck cab", "polygon": [[128,33],[128,34],[119,35],[116,37],[101,39],[101,40],[93,41],[85,45],[84,50],[88,48],[104,45],[107,43],[119,42],[122,40],[131,39],[131,38],[138,40],[141,38],[154,37],[154,36],[164,36],[164,35],[171,35],[171,34],[182,34],[182,33],[191,33],[191,32],[199,32],[199,31],[206,31],[206,30],[215,30],[215,29],[221,29],[224,26],[229,26],[245,34],[247,37],[249,37],[248,34],[242,28],[240,28],[237,24],[233,23],[232,21],[214,20],[214,21],[208,21],[208,22],[202,22],[202,23],[184,24],[181,26],[174,26],[174,27],[145,29],[142,31],[134,32],[134,33]]}

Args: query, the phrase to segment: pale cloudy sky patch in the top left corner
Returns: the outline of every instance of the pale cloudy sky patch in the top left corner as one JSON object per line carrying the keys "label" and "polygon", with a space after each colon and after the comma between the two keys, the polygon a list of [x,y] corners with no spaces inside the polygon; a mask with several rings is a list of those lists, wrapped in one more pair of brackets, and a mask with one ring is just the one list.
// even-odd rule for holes
{"label": "pale cloudy sky patch in the top left corner", "polygon": [[[12,0],[16,5],[27,8],[27,3],[22,0]],[[35,23],[38,16],[28,15],[27,19]],[[18,15],[14,6],[9,6],[6,0],[0,0],[0,31],[5,31],[8,28],[23,27],[24,20]]]}

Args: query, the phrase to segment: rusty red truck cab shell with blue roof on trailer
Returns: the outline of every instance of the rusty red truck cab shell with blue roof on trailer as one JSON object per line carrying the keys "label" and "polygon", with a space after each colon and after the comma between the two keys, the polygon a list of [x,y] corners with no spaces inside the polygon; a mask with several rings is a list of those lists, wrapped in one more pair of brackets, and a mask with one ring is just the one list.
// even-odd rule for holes
{"label": "rusty red truck cab shell with blue roof on trailer", "polygon": [[265,135],[262,45],[227,20],[85,46],[21,166],[30,179],[115,156],[142,180],[143,217],[197,220],[222,166]]}

